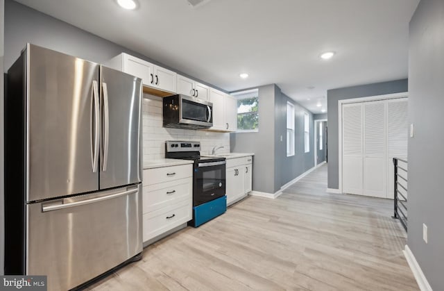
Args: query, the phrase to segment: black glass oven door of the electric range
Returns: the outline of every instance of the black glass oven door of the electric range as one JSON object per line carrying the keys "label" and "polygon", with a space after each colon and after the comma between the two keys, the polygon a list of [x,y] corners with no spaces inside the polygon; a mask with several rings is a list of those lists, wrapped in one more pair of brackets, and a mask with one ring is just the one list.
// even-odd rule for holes
{"label": "black glass oven door of the electric range", "polygon": [[198,167],[194,174],[194,206],[225,195],[225,165]]}

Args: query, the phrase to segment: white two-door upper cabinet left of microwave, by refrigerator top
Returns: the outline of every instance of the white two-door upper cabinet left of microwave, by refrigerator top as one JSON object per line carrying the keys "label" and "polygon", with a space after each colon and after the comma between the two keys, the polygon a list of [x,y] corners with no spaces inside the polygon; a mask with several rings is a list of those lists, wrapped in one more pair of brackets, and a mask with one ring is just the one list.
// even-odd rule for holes
{"label": "white two-door upper cabinet left of microwave, by refrigerator top", "polygon": [[146,60],[121,53],[112,58],[108,66],[142,78],[144,86],[176,93],[176,72],[148,63]]}

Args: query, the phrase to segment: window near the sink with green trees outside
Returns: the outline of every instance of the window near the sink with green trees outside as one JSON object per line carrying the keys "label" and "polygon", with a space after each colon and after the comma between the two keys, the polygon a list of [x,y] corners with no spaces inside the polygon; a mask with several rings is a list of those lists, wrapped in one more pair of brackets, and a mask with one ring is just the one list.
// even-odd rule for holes
{"label": "window near the sink with green trees outside", "polygon": [[259,90],[236,92],[237,97],[237,131],[259,131]]}

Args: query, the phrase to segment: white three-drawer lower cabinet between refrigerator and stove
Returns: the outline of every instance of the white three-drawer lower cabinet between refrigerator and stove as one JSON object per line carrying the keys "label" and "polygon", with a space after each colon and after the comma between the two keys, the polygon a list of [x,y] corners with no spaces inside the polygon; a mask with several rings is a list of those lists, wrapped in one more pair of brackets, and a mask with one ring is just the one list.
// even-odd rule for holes
{"label": "white three-drawer lower cabinet between refrigerator and stove", "polygon": [[143,240],[193,219],[192,165],[144,170]]}

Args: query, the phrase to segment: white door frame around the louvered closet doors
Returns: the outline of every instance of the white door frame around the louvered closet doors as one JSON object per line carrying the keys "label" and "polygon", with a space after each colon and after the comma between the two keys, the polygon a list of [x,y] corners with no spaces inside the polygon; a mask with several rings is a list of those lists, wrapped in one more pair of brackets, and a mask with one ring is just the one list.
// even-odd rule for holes
{"label": "white door frame around the louvered closet doors", "polygon": [[[398,98],[404,98],[409,97],[409,92],[400,92],[400,93],[394,93],[394,94],[383,94],[383,95],[376,95],[376,96],[368,96],[368,97],[357,97],[352,99],[341,99],[338,100],[338,174],[339,174],[339,193],[343,194],[342,192],[342,106],[343,104],[348,103],[361,103],[361,102],[368,102],[368,101],[378,101],[378,100],[388,100],[388,99],[398,99]],[[316,153],[315,153],[316,154]]]}

